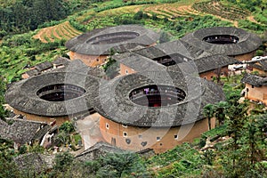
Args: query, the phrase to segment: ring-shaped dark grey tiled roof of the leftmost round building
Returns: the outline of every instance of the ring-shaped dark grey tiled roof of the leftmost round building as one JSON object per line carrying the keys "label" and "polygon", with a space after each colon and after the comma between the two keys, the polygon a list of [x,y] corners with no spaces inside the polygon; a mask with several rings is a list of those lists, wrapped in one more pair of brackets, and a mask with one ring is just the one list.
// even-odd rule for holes
{"label": "ring-shaped dark grey tiled roof of the leftmost round building", "polygon": [[[92,108],[89,93],[96,92],[99,85],[99,78],[91,76],[90,72],[85,65],[69,65],[60,71],[21,80],[8,88],[5,101],[14,109],[38,116],[59,117],[85,112]],[[76,85],[85,89],[85,93],[68,101],[45,101],[36,94],[46,86],[62,84]]]}

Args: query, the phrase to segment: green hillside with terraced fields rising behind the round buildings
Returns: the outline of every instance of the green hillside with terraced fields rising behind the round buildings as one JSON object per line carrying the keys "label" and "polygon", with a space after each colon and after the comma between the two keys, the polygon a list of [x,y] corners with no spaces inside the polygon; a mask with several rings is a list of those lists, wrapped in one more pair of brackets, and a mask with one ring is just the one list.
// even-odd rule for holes
{"label": "green hillside with terraced fields rising behind the round buildings", "polygon": [[[72,2],[72,6],[76,5],[79,6]],[[66,55],[64,43],[69,38],[93,28],[119,24],[142,24],[165,31],[174,39],[198,28],[214,26],[238,26],[263,36],[266,25],[256,21],[258,13],[242,10],[238,4],[228,8],[230,5],[227,1],[216,3],[193,0],[179,0],[174,3],[165,3],[164,0],[126,3],[115,0],[95,3],[88,6],[87,10],[70,15],[66,20],[46,22],[44,26],[48,26],[47,28],[38,28],[35,32],[19,36],[5,36],[0,53],[3,59],[0,73],[7,77],[9,82],[20,79],[20,75],[27,70],[25,66],[52,61],[57,55]],[[16,65],[18,63],[20,65]]]}

